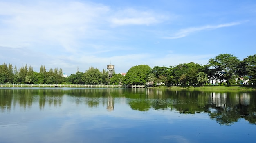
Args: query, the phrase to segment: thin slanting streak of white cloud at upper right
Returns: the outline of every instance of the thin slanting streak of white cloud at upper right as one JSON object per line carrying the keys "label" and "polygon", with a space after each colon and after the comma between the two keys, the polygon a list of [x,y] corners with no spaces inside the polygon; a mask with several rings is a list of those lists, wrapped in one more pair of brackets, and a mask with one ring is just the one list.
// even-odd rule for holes
{"label": "thin slanting streak of white cloud at upper right", "polygon": [[225,24],[219,24],[219,25],[191,27],[191,28],[182,29],[179,32],[177,32],[171,36],[167,36],[167,37],[163,37],[163,38],[164,39],[177,39],[177,38],[186,37],[194,32],[199,32],[199,31],[203,31],[203,30],[214,30],[214,29],[218,29],[218,28],[235,26],[235,25],[239,25],[239,24],[242,24],[242,22],[231,22],[231,23],[225,23]]}

